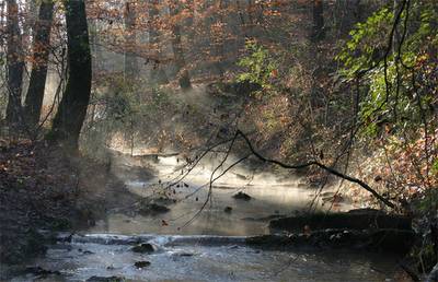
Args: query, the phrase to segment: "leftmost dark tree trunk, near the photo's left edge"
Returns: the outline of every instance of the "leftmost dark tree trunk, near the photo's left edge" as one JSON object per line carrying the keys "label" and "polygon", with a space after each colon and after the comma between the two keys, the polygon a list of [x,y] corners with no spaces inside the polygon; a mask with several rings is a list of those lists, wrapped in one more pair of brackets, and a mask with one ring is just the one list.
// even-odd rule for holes
{"label": "leftmost dark tree trunk, near the photo's left edge", "polygon": [[7,122],[11,129],[15,129],[21,124],[21,92],[24,70],[24,60],[22,52],[22,37],[19,24],[19,5],[15,0],[8,0],[8,106]]}

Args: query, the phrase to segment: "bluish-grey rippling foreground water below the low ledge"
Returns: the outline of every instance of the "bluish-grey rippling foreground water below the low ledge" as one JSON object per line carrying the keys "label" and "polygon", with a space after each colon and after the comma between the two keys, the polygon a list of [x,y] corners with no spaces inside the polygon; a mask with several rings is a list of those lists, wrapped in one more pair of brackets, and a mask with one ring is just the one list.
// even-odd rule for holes
{"label": "bluish-grey rippling foreground water below the low ledge", "polygon": [[[36,263],[58,270],[66,281],[91,277],[124,277],[130,281],[390,281],[390,257],[341,251],[260,250],[242,237],[148,236],[157,246],[136,254],[128,238],[108,243],[107,235],[58,244]],[[118,236],[120,238],[120,236]],[[137,237],[138,239],[138,237]],[[136,261],[150,261],[143,269]],[[53,275],[49,281],[61,281]],[[26,281],[32,275],[13,281]],[[51,280],[50,280],[51,279]]]}

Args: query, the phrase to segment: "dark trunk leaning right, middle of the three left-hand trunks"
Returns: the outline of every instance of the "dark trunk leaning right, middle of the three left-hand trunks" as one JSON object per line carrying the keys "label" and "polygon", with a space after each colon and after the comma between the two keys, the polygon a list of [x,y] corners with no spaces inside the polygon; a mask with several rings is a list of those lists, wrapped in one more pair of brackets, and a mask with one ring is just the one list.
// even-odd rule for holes
{"label": "dark trunk leaning right, middle of the three left-hand trunks", "polygon": [[38,21],[35,26],[31,80],[24,103],[26,121],[31,128],[37,127],[43,106],[44,89],[47,79],[53,15],[53,0],[42,1],[39,5]]}

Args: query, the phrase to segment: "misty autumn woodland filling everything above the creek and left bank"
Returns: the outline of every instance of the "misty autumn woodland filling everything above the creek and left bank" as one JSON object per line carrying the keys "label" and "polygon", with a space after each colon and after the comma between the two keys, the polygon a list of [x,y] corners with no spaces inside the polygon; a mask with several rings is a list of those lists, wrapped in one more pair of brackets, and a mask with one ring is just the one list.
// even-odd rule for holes
{"label": "misty autumn woodland filling everything above the creek and left bank", "polygon": [[437,224],[437,31],[436,0],[2,0],[1,136],[220,143]]}

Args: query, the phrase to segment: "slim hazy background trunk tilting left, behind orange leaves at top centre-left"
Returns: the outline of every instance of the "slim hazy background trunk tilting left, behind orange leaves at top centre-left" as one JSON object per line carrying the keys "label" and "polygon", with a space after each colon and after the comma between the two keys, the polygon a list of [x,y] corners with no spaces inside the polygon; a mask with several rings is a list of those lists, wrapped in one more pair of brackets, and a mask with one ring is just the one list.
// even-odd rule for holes
{"label": "slim hazy background trunk tilting left, behind orange leaves at top centre-left", "polygon": [[[169,9],[172,16],[178,14],[178,3],[173,1]],[[183,91],[192,89],[191,77],[188,70],[186,69],[186,63],[184,59],[184,50],[181,42],[181,26],[178,23],[172,24],[172,49],[175,60],[176,71],[178,75],[180,86]]]}

